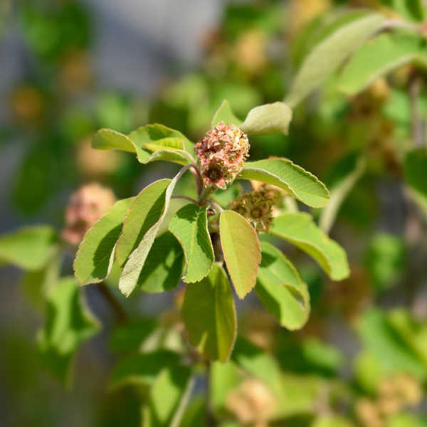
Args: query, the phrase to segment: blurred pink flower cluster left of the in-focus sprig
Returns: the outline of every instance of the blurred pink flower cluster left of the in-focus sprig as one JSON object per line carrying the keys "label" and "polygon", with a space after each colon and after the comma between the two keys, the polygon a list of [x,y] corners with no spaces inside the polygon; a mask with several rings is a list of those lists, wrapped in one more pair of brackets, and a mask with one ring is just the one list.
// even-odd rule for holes
{"label": "blurred pink flower cluster left of the in-focus sprig", "polygon": [[86,231],[106,214],[115,204],[115,195],[100,184],[88,184],[80,187],[71,196],[65,210],[66,228],[62,233],[65,241],[77,246],[83,240]]}

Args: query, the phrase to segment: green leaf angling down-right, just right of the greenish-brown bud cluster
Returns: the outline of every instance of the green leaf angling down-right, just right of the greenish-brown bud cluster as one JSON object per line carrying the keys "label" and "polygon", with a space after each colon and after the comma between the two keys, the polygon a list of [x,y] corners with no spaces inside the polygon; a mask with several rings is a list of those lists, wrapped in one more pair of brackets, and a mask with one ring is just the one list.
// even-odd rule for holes
{"label": "green leaf angling down-right, just right of the greenish-brown bud cluster", "polygon": [[347,255],[339,244],[327,236],[305,213],[283,214],[270,228],[273,236],[289,241],[314,258],[332,280],[349,276]]}

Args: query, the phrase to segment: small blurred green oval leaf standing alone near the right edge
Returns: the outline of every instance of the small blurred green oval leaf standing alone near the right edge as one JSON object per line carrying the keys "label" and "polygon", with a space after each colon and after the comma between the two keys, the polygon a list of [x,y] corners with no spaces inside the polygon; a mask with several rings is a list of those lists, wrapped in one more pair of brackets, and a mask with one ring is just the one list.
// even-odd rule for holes
{"label": "small blurred green oval leaf standing alone near the right edge", "polygon": [[366,256],[367,267],[377,289],[389,287],[406,265],[407,250],[399,236],[376,233]]}

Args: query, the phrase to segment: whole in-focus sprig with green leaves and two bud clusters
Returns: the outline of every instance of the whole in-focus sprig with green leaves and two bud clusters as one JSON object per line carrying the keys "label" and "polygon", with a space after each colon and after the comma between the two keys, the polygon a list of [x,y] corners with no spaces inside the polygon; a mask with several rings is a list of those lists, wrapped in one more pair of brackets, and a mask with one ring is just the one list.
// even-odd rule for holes
{"label": "whole in-focus sprig with green leaves and two bud clusters", "polygon": [[[125,149],[143,164],[164,160],[182,169],[174,179],[160,179],[135,198],[117,201],[85,234],[74,263],[80,285],[105,280],[115,262],[122,268],[119,288],[126,296],[135,288],[172,290],[183,280],[188,284],[182,316],[189,341],[201,354],[221,362],[230,357],[237,334],[228,277],[239,298],[255,289],[280,325],[302,327],[310,312],[307,285],[292,261],[268,241],[260,242],[258,234],[295,244],[334,280],[346,278],[349,268],[344,250],[309,214],[283,203],[293,197],[321,208],[330,201],[325,185],[288,159],[247,160],[250,135],[288,132],[291,117],[290,108],[276,102],[255,107],[241,122],[224,101],[212,129],[197,144],[162,125],[140,127],[130,135],[97,132],[96,149]],[[186,172],[194,174],[192,196],[174,191]],[[262,185],[236,194],[233,182],[241,179]],[[216,201],[221,191],[228,192],[228,203],[223,203],[227,197]],[[159,234],[173,198],[189,203]],[[220,244],[214,245],[218,237]]]}

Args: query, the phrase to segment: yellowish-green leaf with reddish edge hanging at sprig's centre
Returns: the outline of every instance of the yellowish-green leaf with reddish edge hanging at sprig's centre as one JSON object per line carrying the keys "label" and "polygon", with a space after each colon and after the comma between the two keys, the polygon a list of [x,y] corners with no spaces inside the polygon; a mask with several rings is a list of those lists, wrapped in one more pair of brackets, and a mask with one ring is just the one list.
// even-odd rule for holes
{"label": "yellowish-green leaf with reddish edge hanging at sprig's centre", "polygon": [[251,292],[261,262],[261,248],[255,228],[243,216],[223,211],[219,217],[221,247],[228,273],[239,298]]}

